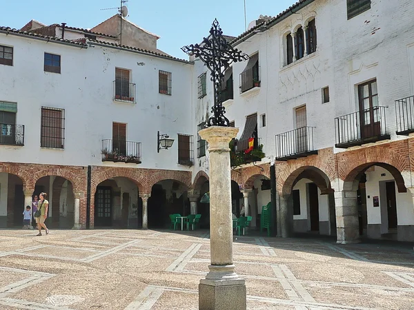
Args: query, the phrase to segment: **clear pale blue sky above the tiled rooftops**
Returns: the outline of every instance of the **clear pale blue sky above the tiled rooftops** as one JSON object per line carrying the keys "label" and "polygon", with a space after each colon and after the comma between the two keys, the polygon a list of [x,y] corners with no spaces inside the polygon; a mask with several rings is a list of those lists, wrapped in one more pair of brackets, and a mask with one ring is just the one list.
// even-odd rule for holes
{"label": "clear pale blue sky above the tiled rooftops", "polygon": [[[117,13],[101,10],[119,6],[118,0],[19,0],[1,1],[0,25],[21,28],[31,19],[50,25],[92,28]],[[260,14],[275,16],[296,0],[246,0],[247,24]],[[244,0],[129,0],[129,19],[158,34],[158,48],[186,59],[179,48],[198,43],[208,35],[211,23],[219,21],[224,34],[237,37],[244,32]]]}

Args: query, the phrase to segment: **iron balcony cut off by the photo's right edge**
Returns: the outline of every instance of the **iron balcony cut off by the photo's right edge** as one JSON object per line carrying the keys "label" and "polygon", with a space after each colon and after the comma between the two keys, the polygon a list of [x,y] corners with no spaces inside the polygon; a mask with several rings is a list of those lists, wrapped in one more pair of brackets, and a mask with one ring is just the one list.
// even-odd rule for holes
{"label": "iron balcony cut off by the photo's right edge", "polygon": [[408,136],[414,132],[414,96],[395,101],[397,134]]}

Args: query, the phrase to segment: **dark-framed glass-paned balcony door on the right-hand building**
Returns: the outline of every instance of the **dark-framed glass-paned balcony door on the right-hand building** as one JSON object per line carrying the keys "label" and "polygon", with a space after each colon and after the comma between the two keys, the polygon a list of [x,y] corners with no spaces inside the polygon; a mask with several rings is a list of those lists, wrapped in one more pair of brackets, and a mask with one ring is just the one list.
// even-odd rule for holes
{"label": "dark-framed glass-paned balcony door on the right-hand building", "polygon": [[358,96],[362,138],[379,136],[381,134],[381,124],[377,80],[358,85]]}

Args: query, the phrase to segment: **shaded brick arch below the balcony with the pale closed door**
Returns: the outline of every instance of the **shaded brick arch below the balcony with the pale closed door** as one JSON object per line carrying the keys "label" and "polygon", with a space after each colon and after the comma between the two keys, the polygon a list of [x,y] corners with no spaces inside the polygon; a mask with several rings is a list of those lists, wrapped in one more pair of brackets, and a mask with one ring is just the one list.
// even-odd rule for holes
{"label": "shaded brick arch below the balcony with the pale closed door", "polygon": [[332,192],[331,181],[327,174],[314,166],[302,166],[295,171],[290,172],[289,176],[285,180],[278,180],[279,189],[282,189],[282,194],[288,195],[292,192],[293,186],[298,180],[302,178],[308,178],[319,187],[321,194],[328,194]]}

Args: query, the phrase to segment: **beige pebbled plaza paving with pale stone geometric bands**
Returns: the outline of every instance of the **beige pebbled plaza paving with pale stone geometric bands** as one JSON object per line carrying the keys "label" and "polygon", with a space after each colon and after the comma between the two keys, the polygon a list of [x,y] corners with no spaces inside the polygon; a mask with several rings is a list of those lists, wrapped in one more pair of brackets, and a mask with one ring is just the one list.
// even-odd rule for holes
{"label": "beige pebbled plaza paving with pale stone geometric bands", "polygon": [[[0,309],[197,309],[208,231],[3,230]],[[248,309],[414,309],[414,251],[241,236]]]}

